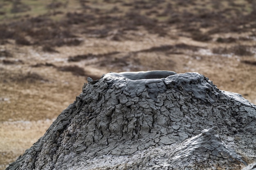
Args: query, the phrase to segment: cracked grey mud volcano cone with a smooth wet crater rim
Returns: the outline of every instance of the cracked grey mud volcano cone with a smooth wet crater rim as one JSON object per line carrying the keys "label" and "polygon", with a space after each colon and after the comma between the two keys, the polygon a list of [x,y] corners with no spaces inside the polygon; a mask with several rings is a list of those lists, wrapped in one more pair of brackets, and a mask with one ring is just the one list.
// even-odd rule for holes
{"label": "cracked grey mud volcano cone with a smooth wet crater rim", "polygon": [[108,73],[7,170],[251,170],[255,135],[256,105],[202,74]]}

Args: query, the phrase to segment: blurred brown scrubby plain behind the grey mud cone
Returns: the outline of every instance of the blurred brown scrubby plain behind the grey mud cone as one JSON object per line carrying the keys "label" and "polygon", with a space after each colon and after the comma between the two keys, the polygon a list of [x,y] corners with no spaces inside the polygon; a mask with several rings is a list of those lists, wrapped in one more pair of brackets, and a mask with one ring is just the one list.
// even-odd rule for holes
{"label": "blurred brown scrubby plain behind the grey mud cone", "polygon": [[254,0],[0,0],[0,170],[108,72],[199,72],[256,103]]}

